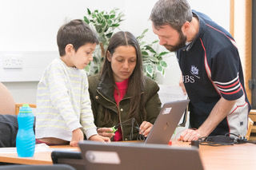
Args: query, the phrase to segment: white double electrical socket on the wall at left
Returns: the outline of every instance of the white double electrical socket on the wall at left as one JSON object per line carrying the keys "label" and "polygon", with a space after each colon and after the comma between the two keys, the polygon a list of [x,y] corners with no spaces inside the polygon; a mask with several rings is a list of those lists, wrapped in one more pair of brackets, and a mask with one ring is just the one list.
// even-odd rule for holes
{"label": "white double electrical socket on the wall at left", "polygon": [[4,69],[22,69],[23,57],[18,54],[4,55],[2,63]]}

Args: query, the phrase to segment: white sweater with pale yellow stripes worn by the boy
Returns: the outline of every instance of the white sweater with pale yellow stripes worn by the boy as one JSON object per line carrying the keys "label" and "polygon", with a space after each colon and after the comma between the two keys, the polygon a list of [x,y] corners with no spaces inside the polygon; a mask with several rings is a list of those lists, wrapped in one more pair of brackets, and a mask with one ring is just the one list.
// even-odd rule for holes
{"label": "white sweater with pale yellow stripes worn by the boy", "polygon": [[87,76],[56,58],[38,83],[35,136],[70,141],[76,128],[83,128],[87,139],[97,134]]}

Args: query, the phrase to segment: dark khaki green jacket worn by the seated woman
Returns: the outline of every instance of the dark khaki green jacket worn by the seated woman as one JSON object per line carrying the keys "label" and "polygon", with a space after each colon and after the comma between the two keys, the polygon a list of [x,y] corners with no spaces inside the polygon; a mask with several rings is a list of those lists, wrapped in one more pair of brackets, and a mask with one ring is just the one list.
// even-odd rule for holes
{"label": "dark khaki green jacket worn by the seated woman", "polygon": [[[158,97],[158,84],[151,80],[149,77],[145,77],[145,87],[141,92],[141,95],[146,97],[146,120],[151,124],[158,117],[158,113],[161,109],[161,101]],[[98,128],[106,127],[111,128],[114,125],[118,125],[119,122],[128,120],[128,114],[130,109],[130,97],[127,94],[116,104],[114,100],[114,87],[110,84],[110,81],[100,80],[98,74],[88,77],[89,92],[92,110],[94,113],[94,123]],[[110,110],[110,116],[112,123],[103,123],[105,109]],[[118,117],[118,112],[120,117]],[[138,122],[138,126],[142,122]],[[138,140],[138,129],[131,127],[131,122],[121,126],[122,128],[122,140]]]}

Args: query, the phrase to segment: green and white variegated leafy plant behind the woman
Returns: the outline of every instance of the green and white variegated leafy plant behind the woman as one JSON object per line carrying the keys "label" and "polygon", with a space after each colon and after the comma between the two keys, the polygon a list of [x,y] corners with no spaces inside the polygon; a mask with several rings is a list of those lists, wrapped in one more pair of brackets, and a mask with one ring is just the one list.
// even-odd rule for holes
{"label": "green and white variegated leafy plant behind the woman", "polygon": [[[94,10],[91,12],[87,8],[87,15],[84,16],[84,21],[90,25],[90,27],[98,33],[99,48],[94,52],[94,59],[90,62],[90,65],[86,66],[86,73],[92,75],[98,73],[102,68],[104,55],[111,36],[120,26],[120,22],[123,21],[124,14],[118,11],[118,8],[110,10],[110,13],[106,11]],[[145,37],[148,29],[144,30],[140,36],[137,37],[138,43],[142,50],[143,72],[146,76],[156,79],[157,73],[165,74],[167,63],[164,61],[164,56],[170,52],[158,53],[154,50],[154,45],[158,42],[146,43],[143,38]]]}

